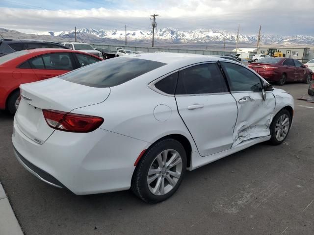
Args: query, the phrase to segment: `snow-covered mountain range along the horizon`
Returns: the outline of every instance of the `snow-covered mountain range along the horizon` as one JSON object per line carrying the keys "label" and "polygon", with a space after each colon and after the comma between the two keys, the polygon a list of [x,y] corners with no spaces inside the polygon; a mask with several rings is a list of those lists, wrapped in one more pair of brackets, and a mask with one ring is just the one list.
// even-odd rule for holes
{"label": "snow-covered mountain range along the horizon", "polygon": [[[92,35],[99,39],[124,41],[124,30],[105,30],[95,28],[77,29],[77,33]],[[59,36],[66,38],[73,35],[74,30],[60,32],[41,32],[36,35]],[[226,37],[227,43],[236,42],[236,33],[228,32],[220,29],[197,29],[190,31],[180,31],[175,28],[160,28],[155,33],[157,43],[217,43],[223,42]],[[239,34],[239,43],[256,43],[258,35]],[[149,43],[152,40],[151,30],[127,30],[127,40],[132,43]],[[91,40],[92,41],[92,40]],[[280,36],[280,35],[262,35],[261,42],[263,44],[282,44],[282,45],[313,45],[313,36]]]}

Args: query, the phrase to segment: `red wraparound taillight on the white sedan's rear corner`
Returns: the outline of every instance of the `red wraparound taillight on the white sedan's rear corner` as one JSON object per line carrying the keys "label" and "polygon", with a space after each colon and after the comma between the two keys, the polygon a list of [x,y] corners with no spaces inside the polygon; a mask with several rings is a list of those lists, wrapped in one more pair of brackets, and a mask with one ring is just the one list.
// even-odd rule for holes
{"label": "red wraparound taillight on the white sedan's rear corner", "polygon": [[68,132],[91,132],[100,127],[104,118],[43,109],[47,124],[53,129]]}

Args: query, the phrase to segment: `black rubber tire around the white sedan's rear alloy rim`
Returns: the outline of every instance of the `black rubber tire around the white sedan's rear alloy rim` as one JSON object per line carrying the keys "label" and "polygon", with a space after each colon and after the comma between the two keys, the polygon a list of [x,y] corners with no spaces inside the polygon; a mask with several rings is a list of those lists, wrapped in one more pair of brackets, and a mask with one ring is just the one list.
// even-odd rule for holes
{"label": "black rubber tire around the white sedan's rear alloy rim", "polygon": [[[155,195],[150,191],[148,187],[147,182],[148,172],[151,165],[155,161],[157,155],[159,155],[162,151],[167,149],[175,150],[180,154],[182,159],[181,175],[176,185],[169,192],[163,195]],[[179,141],[176,141],[171,138],[161,139],[154,143],[151,147],[149,147],[149,149],[146,150],[145,154],[138,162],[132,176],[131,189],[136,196],[138,196],[145,202],[151,204],[162,202],[169,198],[170,196],[172,196],[172,194],[174,194],[175,191],[180,187],[185,171],[186,171],[186,153],[182,144]]]}

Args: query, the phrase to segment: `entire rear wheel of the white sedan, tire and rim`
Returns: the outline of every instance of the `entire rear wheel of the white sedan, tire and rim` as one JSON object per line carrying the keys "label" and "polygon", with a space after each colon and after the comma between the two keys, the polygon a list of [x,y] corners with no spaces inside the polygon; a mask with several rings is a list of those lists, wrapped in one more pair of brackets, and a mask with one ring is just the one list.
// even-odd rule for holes
{"label": "entire rear wheel of the white sedan, tire and rim", "polygon": [[154,143],[137,164],[131,189],[143,201],[158,203],[179,188],[186,170],[186,153],[179,141],[166,138]]}

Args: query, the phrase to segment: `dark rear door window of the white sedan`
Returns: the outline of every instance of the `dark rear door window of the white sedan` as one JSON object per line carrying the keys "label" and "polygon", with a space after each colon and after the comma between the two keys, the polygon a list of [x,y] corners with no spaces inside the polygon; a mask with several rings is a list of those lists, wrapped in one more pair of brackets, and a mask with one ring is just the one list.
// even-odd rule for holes
{"label": "dark rear door window of the white sedan", "polygon": [[227,91],[216,63],[196,65],[179,72],[176,94],[212,94]]}

